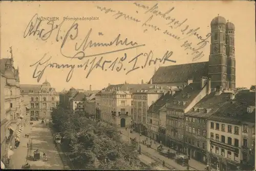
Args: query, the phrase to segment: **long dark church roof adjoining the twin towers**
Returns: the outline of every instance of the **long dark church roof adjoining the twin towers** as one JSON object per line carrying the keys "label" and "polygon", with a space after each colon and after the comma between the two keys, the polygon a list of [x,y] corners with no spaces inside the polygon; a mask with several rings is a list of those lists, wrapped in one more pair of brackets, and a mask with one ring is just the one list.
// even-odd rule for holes
{"label": "long dark church roof adjoining the twin towers", "polygon": [[186,63],[167,67],[159,67],[152,77],[152,83],[200,81],[208,75],[208,62]]}

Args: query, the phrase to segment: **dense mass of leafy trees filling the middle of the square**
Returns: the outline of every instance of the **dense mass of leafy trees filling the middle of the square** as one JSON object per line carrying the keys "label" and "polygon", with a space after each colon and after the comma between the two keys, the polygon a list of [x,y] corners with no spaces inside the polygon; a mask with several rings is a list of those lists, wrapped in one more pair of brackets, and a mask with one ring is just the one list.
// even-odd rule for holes
{"label": "dense mass of leafy trees filling the middle of the square", "polygon": [[77,169],[154,169],[142,165],[137,147],[121,140],[115,127],[61,109],[52,112],[53,123],[67,139],[70,157]]}

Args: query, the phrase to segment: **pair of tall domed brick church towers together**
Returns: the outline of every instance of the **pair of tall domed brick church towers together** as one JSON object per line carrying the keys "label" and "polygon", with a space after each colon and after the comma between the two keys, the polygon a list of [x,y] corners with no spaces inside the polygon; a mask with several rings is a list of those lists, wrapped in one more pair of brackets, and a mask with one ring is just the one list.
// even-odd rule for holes
{"label": "pair of tall domed brick church towers together", "polygon": [[234,58],[234,24],[222,16],[212,19],[208,76],[211,87],[236,88],[236,59]]}

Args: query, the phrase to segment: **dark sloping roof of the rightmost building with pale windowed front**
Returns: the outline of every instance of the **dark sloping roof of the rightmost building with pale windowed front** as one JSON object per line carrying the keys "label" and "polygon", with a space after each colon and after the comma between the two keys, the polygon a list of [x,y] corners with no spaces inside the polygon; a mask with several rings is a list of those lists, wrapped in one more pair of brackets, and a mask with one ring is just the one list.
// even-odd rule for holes
{"label": "dark sloping roof of the rightmost building with pale windowed front", "polygon": [[233,100],[226,102],[210,119],[238,124],[242,121],[255,123],[255,109],[248,113],[248,106],[255,106],[255,92],[239,91]]}

